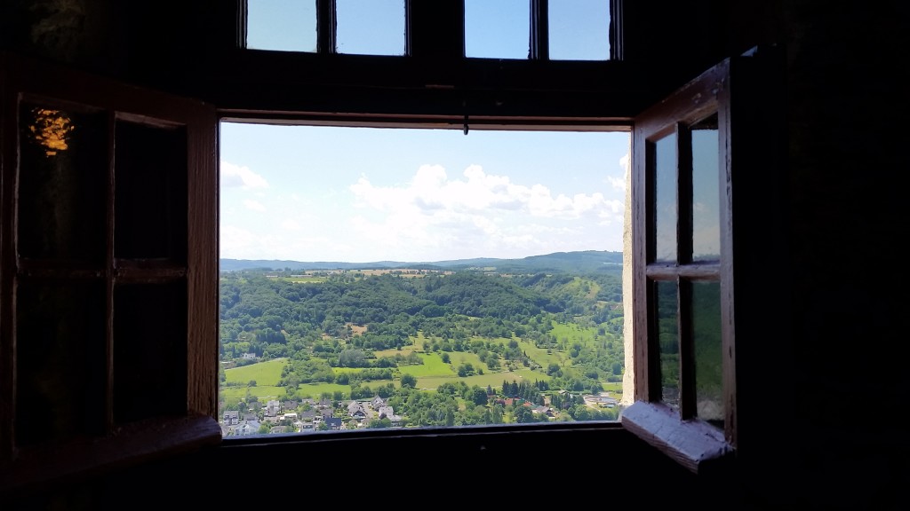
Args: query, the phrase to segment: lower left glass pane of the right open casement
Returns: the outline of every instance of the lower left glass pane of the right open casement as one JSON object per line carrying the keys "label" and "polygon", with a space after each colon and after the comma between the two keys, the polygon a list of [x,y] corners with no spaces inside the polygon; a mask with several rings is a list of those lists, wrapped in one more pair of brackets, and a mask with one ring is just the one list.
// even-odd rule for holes
{"label": "lower left glass pane of the right open casement", "polygon": [[657,297],[657,346],[661,356],[661,400],[679,408],[680,336],[675,282],[655,282]]}

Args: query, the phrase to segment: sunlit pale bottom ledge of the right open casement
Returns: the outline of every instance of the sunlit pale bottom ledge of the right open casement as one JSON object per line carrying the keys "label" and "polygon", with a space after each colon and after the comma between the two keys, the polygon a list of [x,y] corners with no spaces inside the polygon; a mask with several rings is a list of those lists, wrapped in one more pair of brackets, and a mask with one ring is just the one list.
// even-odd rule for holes
{"label": "sunlit pale bottom ledge of the right open casement", "polygon": [[621,422],[694,474],[725,465],[735,452],[723,431],[700,420],[681,420],[669,406],[637,401],[623,410]]}

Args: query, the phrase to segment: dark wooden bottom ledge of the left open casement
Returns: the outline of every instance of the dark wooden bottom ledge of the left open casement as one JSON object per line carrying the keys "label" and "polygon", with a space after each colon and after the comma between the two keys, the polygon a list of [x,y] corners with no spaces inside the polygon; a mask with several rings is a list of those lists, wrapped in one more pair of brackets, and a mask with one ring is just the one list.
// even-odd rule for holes
{"label": "dark wooden bottom ledge of the left open casement", "polygon": [[97,476],[220,442],[221,428],[214,418],[190,416],[121,426],[110,436],[23,447],[14,461],[0,465],[0,494]]}

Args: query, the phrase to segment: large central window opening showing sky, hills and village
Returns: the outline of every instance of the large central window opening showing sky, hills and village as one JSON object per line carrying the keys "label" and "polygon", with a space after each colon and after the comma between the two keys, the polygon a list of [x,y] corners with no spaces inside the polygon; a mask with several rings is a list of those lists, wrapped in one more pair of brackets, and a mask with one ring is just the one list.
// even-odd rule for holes
{"label": "large central window opening showing sky, hills and village", "polygon": [[387,427],[618,418],[628,133],[225,122],[219,146],[223,406],[272,427],[322,399],[350,429],[387,402]]}

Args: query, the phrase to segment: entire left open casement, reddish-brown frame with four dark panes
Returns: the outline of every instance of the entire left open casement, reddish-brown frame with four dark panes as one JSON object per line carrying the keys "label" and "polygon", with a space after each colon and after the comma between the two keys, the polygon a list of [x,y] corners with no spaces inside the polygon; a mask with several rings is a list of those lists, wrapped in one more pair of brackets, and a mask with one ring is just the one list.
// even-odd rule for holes
{"label": "entire left open casement, reddish-brown frame with four dark panes", "polygon": [[214,109],[4,55],[0,486],[217,441]]}

